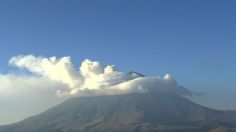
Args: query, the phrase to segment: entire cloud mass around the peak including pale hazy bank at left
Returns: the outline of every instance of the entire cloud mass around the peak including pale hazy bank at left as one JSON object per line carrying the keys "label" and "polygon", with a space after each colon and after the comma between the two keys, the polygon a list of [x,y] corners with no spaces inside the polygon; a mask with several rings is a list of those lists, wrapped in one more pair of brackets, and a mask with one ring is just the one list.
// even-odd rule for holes
{"label": "entire cloud mass around the peak including pale hazy bank at left", "polygon": [[89,59],[85,59],[78,68],[70,57],[21,55],[12,57],[9,64],[31,74],[0,74],[0,124],[37,114],[71,96],[148,91],[191,94],[179,86],[170,74],[164,77],[146,77],[137,72],[124,73],[117,71],[115,65],[103,66],[100,62]]}

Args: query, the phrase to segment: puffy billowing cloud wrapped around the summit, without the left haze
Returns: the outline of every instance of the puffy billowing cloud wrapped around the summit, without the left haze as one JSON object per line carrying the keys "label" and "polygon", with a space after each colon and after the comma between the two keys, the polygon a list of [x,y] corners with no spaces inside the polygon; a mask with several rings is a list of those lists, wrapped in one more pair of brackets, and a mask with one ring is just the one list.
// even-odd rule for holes
{"label": "puffy billowing cloud wrapped around the summit, without the left haze", "polygon": [[100,62],[89,59],[85,59],[78,69],[74,67],[70,57],[45,58],[26,55],[12,57],[9,63],[67,85],[68,89],[57,90],[58,95],[111,95],[149,90],[184,93],[179,92],[184,88],[178,86],[169,74],[163,78],[144,77],[135,72],[119,72],[115,69],[115,65],[103,66]]}

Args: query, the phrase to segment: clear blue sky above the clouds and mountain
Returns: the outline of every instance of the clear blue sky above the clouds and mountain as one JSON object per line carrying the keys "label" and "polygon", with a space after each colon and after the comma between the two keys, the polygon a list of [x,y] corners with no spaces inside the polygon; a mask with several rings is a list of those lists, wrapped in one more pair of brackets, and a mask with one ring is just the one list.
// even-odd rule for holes
{"label": "clear blue sky above the clouds and mountain", "polygon": [[[0,72],[19,54],[171,73],[187,87],[236,87],[236,1],[2,0]],[[203,88],[202,88],[203,89]]]}

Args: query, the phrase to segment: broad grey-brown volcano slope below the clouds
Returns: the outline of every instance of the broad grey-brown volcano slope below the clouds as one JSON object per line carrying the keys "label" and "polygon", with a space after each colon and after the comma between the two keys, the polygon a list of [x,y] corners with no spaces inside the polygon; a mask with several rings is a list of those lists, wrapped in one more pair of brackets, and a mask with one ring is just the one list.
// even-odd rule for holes
{"label": "broad grey-brown volcano slope below the clouds", "polygon": [[[174,94],[71,98],[1,132],[208,131],[236,126],[236,113],[213,110]],[[219,128],[220,129],[220,128]]]}

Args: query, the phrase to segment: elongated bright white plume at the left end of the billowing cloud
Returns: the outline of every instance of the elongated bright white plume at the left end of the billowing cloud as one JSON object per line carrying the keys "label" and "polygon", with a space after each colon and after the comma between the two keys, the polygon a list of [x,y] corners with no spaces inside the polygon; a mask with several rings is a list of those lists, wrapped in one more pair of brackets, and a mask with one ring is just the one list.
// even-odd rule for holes
{"label": "elongated bright white plume at the left end of the billowing cloud", "polygon": [[33,55],[16,56],[12,57],[9,63],[52,80],[61,81],[71,88],[79,87],[83,81],[71,63],[70,57],[57,59],[55,56],[50,58],[35,57]]}

